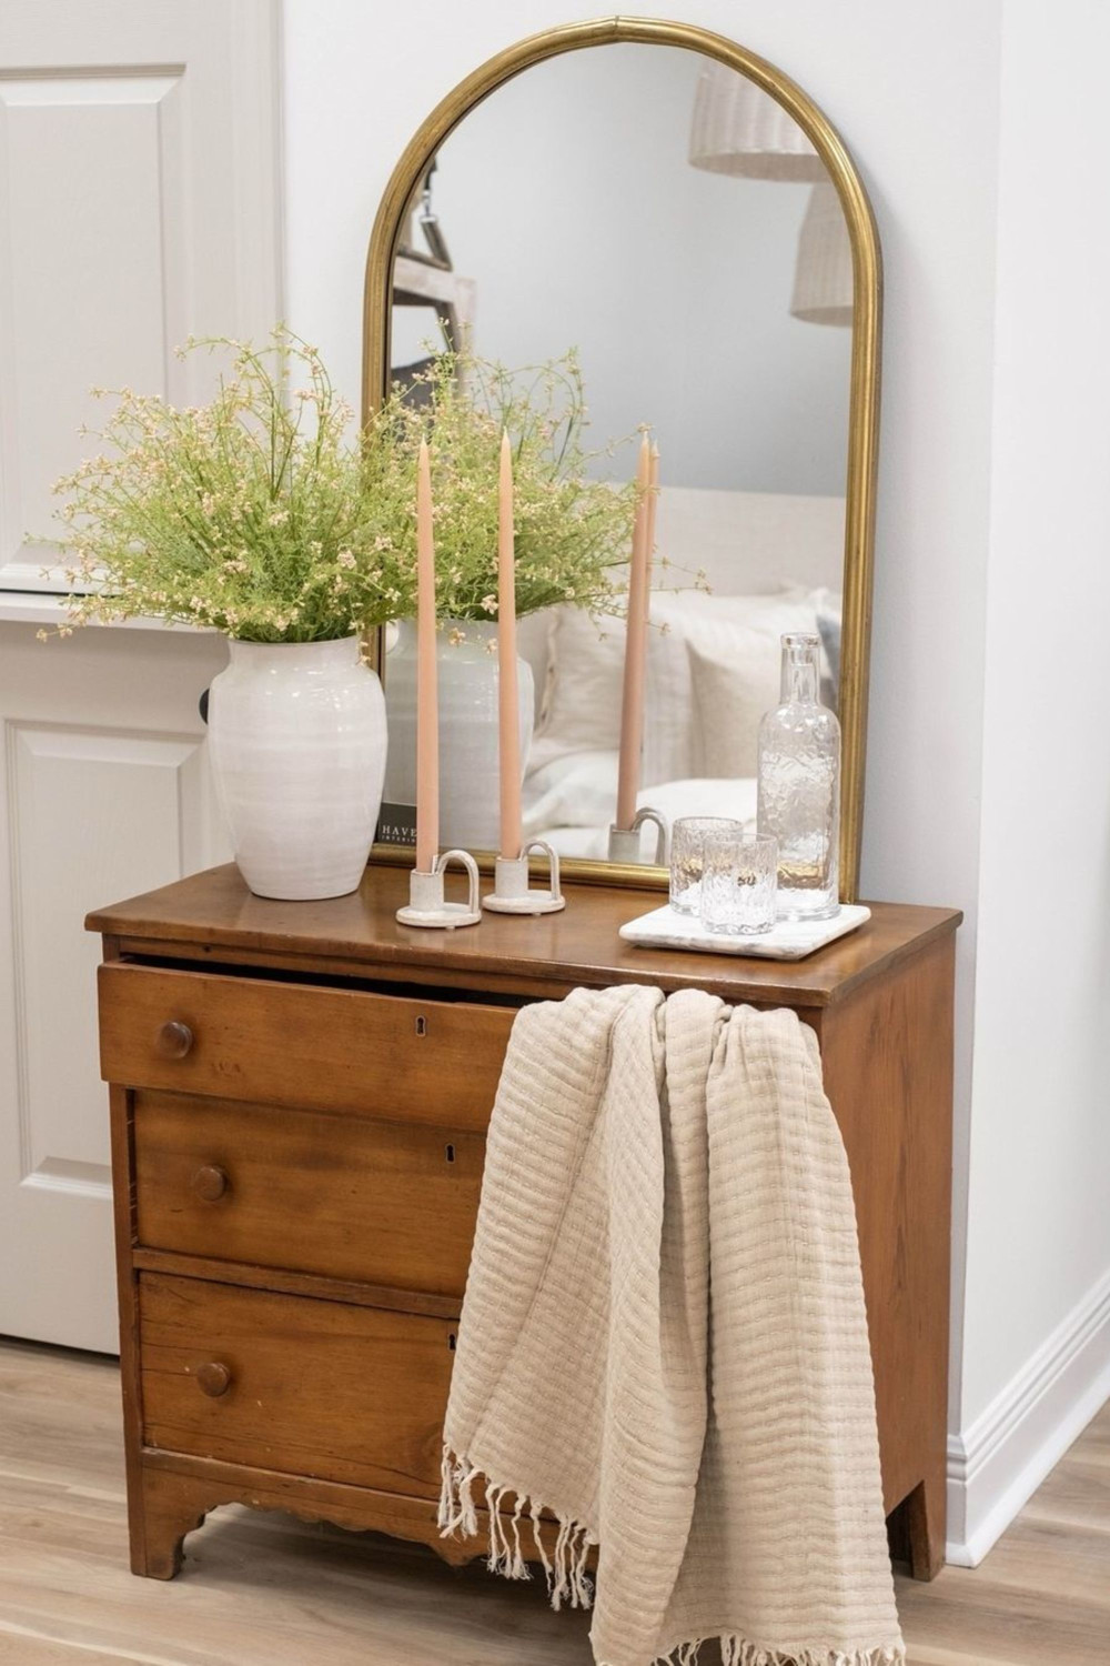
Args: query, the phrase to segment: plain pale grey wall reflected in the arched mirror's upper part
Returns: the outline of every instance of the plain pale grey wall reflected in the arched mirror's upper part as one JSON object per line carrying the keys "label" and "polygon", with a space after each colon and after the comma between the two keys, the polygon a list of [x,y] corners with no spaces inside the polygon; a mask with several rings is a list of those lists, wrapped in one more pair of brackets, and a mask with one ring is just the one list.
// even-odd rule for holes
{"label": "plain pale grey wall reflected in the arched mirror's upper part", "polygon": [[[536,365],[576,347],[591,446],[647,421],[667,485],[840,496],[850,330],[789,312],[810,187],[691,167],[704,62],[572,52],[449,135],[433,202],[476,283],[474,350]],[[394,362],[428,335],[419,308]],[[632,468],[627,448],[599,471]]]}

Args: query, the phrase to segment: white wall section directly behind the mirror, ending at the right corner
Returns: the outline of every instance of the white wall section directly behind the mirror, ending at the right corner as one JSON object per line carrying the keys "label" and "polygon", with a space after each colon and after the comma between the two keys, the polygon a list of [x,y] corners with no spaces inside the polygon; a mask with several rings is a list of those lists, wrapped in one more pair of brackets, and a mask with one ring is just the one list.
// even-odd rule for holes
{"label": "white wall section directly behind the mirror, ending at the right corner", "polygon": [[[864,881],[974,911],[987,560],[999,5],[939,0],[642,0],[780,63],[852,148],[887,268],[882,475]],[[378,200],[414,128],[566,0],[285,0],[286,297],[358,393],[363,270]],[[954,50],[959,42],[959,50]],[[974,920],[962,933],[970,1011]],[[960,1036],[960,1140],[970,1038]]]}

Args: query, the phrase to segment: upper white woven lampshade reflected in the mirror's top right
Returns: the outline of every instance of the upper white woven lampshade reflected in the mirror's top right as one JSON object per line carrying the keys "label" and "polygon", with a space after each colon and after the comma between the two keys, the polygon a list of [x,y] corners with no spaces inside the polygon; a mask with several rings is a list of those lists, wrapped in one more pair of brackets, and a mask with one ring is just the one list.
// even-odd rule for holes
{"label": "upper white woven lampshade reflected in the mirror's top right", "polygon": [[697,78],[691,163],[746,180],[829,177],[794,117],[727,63],[712,63]]}

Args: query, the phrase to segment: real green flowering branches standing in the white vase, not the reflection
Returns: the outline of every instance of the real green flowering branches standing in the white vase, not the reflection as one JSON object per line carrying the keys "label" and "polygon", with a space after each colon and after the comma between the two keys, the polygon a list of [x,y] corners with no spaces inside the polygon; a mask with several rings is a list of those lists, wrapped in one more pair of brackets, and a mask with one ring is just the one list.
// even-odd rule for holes
{"label": "real green flowering branches standing in the white vase, not the reflection", "polygon": [[213,338],[191,352],[228,360],[208,405],[120,390],[95,433],[103,450],[53,488],[73,590],[62,635],[146,615],[241,641],[328,641],[408,616],[411,538],[384,531],[373,448],[351,436],[316,348],[278,325],[261,348]]}

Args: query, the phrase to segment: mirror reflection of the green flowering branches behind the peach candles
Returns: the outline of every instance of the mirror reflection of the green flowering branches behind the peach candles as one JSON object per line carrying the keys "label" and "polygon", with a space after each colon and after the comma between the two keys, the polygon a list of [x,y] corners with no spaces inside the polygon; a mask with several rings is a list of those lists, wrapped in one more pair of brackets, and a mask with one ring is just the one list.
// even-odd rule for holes
{"label": "mirror reflection of the green flowering branches behind the peach candles", "polygon": [[526,370],[441,353],[371,418],[368,490],[378,526],[406,566],[416,560],[416,455],[423,438],[429,443],[439,620],[498,615],[503,433],[513,445],[518,615],[562,601],[621,611],[636,486],[589,476],[616,446],[586,450],[586,415],[574,352]]}

